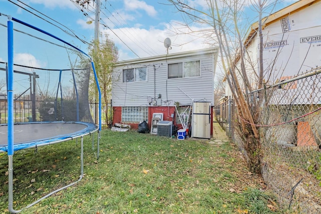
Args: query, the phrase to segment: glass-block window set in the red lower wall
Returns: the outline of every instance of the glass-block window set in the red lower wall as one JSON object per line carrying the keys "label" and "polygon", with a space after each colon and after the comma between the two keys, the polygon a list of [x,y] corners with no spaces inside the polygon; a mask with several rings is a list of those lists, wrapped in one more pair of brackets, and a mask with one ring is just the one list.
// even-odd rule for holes
{"label": "glass-block window set in the red lower wall", "polygon": [[125,106],[121,107],[121,121],[138,123],[145,120],[148,122],[148,106]]}

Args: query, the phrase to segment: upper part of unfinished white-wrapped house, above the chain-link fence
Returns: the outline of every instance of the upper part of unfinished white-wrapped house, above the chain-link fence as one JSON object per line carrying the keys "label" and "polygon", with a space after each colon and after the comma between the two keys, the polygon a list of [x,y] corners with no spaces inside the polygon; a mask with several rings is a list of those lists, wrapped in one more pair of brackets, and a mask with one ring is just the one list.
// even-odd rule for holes
{"label": "upper part of unfinished white-wrapped house, above the chain-link fence", "polygon": [[[321,66],[320,11],[320,0],[301,0],[262,19],[263,78],[267,85]],[[253,89],[257,89],[258,81],[258,74],[253,73],[258,71],[257,30],[258,23],[254,23],[244,42],[247,54],[245,64]],[[228,84],[226,87],[226,95],[231,96]]]}

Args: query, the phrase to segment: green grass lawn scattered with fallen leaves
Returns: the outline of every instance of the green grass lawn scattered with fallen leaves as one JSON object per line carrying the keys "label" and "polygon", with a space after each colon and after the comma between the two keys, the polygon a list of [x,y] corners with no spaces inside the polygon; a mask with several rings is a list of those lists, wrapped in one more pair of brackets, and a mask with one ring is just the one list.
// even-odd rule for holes
{"label": "green grass lawn scattered with fallen leaves", "polygon": [[[95,134],[95,137],[97,135]],[[103,130],[100,157],[84,141],[85,176],[22,213],[282,213],[234,144]],[[0,213],[8,213],[8,156],[0,153]],[[14,208],[80,175],[80,140],[14,155]],[[263,190],[262,190],[263,189]]]}

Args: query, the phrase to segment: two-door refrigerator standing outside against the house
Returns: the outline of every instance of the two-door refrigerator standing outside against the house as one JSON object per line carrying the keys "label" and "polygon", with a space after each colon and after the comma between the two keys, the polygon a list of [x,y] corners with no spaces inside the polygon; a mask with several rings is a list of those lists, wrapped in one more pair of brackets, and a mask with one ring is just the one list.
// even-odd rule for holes
{"label": "two-door refrigerator standing outside against the house", "polygon": [[194,102],[192,137],[211,138],[211,103]]}

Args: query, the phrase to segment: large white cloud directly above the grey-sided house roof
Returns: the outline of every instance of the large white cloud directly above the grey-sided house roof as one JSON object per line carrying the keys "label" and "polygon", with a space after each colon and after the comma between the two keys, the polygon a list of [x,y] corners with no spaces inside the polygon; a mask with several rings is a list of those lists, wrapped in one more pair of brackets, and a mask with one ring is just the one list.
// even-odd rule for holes
{"label": "large white cloud directly above the grey-sided house roof", "polygon": [[[114,35],[110,30],[104,30],[105,33],[109,34],[109,38],[115,42],[115,45],[119,50],[119,60],[128,60],[138,58],[133,52],[135,52],[140,58],[164,55],[167,53],[164,47],[164,40],[169,37],[172,40],[172,49],[169,53],[178,53],[183,51],[197,50],[208,48],[209,45],[204,44],[203,38],[196,38],[194,36],[183,34],[173,35],[173,32],[169,28],[182,27],[177,22],[172,21],[171,24],[160,25],[161,28],[120,28],[113,29],[112,31],[117,34]],[[183,30],[183,29],[181,29]],[[194,27],[194,30],[199,30]],[[185,29],[187,32],[187,29]],[[120,39],[121,38],[121,41]],[[124,45],[124,43],[126,45]]]}

